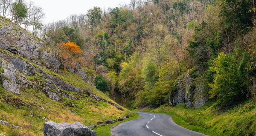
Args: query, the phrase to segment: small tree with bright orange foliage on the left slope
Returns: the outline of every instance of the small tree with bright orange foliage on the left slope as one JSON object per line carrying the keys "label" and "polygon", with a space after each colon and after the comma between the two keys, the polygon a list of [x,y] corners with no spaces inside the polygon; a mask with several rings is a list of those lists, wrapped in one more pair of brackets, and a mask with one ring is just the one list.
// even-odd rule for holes
{"label": "small tree with bright orange foliage on the left slope", "polygon": [[61,64],[66,70],[68,66],[76,67],[76,63],[80,63],[83,60],[82,50],[76,43],[68,41],[67,43],[58,43],[60,50],[58,51],[61,58]]}

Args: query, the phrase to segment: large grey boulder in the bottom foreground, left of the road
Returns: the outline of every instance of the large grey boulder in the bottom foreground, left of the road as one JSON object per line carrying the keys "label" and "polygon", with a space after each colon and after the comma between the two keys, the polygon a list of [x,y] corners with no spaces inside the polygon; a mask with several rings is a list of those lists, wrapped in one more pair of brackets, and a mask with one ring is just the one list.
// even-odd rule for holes
{"label": "large grey boulder in the bottom foreground, left of the road", "polygon": [[44,124],[44,136],[96,136],[96,132],[80,122],[57,124],[49,121]]}

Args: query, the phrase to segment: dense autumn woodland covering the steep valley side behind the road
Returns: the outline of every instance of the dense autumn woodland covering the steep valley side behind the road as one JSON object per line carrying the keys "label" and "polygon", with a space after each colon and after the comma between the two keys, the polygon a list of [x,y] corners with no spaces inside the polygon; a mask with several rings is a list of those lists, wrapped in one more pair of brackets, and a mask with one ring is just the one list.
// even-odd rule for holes
{"label": "dense autumn woodland covering the steep valley side behind the road", "polygon": [[[6,1],[12,0],[1,0],[0,14],[7,17]],[[188,73],[220,106],[255,98],[254,0],[131,0],[44,26],[44,15],[31,20],[29,4],[15,3],[9,18],[33,26],[61,56],[59,68],[83,65],[88,80],[125,107],[165,104]],[[26,14],[13,12],[15,5]]]}

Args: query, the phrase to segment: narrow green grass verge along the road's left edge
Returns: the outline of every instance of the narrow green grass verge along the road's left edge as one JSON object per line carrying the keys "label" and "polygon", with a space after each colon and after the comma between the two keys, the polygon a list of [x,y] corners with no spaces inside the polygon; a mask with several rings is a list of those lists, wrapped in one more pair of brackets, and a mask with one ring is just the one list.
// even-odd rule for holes
{"label": "narrow green grass verge along the road's left edge", "polygon": [[[133,116],[131,116],[130,118],[128,118],[128,119],[126,119],[122,122],[128,122],[130,120],[137,119],[139,117],[140,117],[140,115],[138,113],[134,113]],[[115,122],[113,124],[107,124],[105,126],[98,127],[94,130],[97,132],[97,136],[111,136],[111,133],[110,133],[111,127],[116,126],[119,123],[121,123],[121,122]]]}

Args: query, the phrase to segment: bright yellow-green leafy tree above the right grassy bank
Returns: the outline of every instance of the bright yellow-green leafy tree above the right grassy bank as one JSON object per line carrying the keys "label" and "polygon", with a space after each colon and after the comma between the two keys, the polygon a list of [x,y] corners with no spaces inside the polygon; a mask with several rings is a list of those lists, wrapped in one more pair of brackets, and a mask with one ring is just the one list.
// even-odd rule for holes
{"label": "bright yellow-green leafy tree above the right grassy bank", "polygon": [[[245,69],[245,68],[243,68]],[[210,98],[217,98],[220,104],[226,104],[226,101],[234,101],[237,97],[243,98],[244,78],[246,76],[239,72],[237,58],[232,54],[221,52],[213,60],[209,72],[214,72],[213,84],[209,84]]]}

